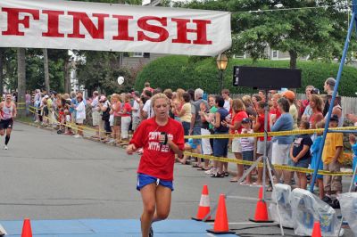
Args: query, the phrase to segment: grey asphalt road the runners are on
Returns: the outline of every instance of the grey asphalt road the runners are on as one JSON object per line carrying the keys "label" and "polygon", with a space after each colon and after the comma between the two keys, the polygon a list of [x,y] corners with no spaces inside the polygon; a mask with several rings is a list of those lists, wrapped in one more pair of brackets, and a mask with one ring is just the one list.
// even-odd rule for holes
{"label": "grey asphalt road the runners are on", "polygon": [[[118,147],[15,123],[9,150],[0,151],[0,224],[24,217],[138,218],[142,211],[136,190],[138,161],[137,155],[128,156]],[[279,235],[277,226],[248,222],[258,188],[228,180],[177,164],[170,219],[195,216],[203,184],[208,184],[212,206],[220,193],[237,196],[226,205],[230,227],[239,235]]]}

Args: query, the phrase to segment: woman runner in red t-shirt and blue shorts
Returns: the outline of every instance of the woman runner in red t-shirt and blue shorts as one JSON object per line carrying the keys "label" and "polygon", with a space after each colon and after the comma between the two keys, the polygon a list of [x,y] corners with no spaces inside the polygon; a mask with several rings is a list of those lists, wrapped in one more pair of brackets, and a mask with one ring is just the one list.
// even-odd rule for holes
{"label": "woman runner in red t-shirt and blue shorts", "polygon": [[185,147],[184,128],[169,117],[169,98],[155,94],[151,100],[154,118],[137,127],[127,147],[129,155],[144,149],[137,168],[137,190],[144,204],[140,218],[143,237],[154,236],[152,223],[169,216],[175,153],[181,158]]}

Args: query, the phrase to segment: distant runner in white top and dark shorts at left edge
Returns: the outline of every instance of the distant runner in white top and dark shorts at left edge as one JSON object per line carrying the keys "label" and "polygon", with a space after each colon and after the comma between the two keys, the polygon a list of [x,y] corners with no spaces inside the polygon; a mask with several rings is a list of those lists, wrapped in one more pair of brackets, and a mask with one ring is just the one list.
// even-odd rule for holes
{"label": "distant runner in white top and dark shorts at left edge", "polygon": [[12,102],[12,94],[5,95],[5,101],[0,103],[0,135],[5,134],[4,150],[7,150],[7,144],[10,141],[12,132],[13,118],[16,118],[16,105]]}

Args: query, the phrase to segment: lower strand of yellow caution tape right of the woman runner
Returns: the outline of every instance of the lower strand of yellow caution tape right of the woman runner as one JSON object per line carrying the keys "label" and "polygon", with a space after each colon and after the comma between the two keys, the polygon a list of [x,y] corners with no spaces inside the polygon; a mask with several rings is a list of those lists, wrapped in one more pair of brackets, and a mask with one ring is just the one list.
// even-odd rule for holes
{"label": "lower strand of yellow caution tape right of the woman runner", "polygon": [[[235,164],[245,165],[245,166],[252,166],[254,163],[253,161],[247,161],[247,160],[242,160],[242,159],[229,159],[229,158],[224,158],[224,157],[215,157],[215,156],[203,155],[203,154],[186,152],[186,151],[184,152],[184,154],[187,156],[192,156],[192,157],[196,157],[196,158],[212,159],[212,160],[217,160],[217,161],[221,161],[221,162],[235,163]],[[258,164],[258,166],[262,167],[262,163]],[[273,165],[273,168],[287,170],[287,171],[296,171],[296,172],[306,173],[306,174],[311,174],[314,172],[314,170],[311,168],[295,168],[295,167],[281,166],[281,165]],[[318,174],[322,175],[322,176],[353,176],[353,172],[331,172],[331,171],[320,170],[320,169],[318,171]]]}

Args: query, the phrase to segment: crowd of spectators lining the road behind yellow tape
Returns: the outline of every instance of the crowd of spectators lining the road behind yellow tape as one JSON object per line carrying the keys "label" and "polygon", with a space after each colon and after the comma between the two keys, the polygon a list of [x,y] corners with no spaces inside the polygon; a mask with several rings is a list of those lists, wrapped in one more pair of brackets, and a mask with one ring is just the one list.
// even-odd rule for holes
{"label": "crowd of spectators lining the road behind yellow tape", "polygon": [[[26,106],[36,108],[35,122],[43,126],[58,127],[65,135],[82,137],[83,126],[89,122],[94,127],[92,138],[104,143],[126,145],[130,135],[135,132],[140,122],[154,117],[151,97],[163,93],[170,99],[170,118],[178,120],[184,128],[185,135],[226,135],[252,134],[264,132],[265,110],[268,112],[268,130],[266,132],[283,132],[297,129],[314,129],[325,127],[328,119],[328,108],[331,105],[332,115],[328,127],[342,127],[344,111],[341,98],[337,94],[334,104],[331,104],[336,80],[328,78],[324,84],[324,92],[314,86],[306,86],[304,100],[297,100],[294,91],[278,92],[270,90],[259,91],[257,94],[245,95],[241,98],[231,98],[228,89],[223,89],[219,95],[207,95],[203,90],[152,88],[145,83],[142,92],[132,90],[128,93],[99,94],[93,92],[91,97],[84,98],[81,92],[71,94],[57,94],[36,90],[33,96],[26,94]],[[357,117],[348,115],[347,119]],[[86,122],[87,121],[87,122]],[[74,125],[68,126],[68,125]],[[66,126],[67,125],[67,126]],[[186,138],[185,149],[204,155],[228,157],[228,151],[234,153],[236,159],[253,161],[266,154],[273,165],[291,166],[296,168],[316,168],[318,166],[318,152],[321,134],[314,135],[280,135],[268,137],[267,146],[264,137],[242,138]],[[357,144],[354,135],[349,136],[352,145],[353,168],[357,159]],[[344,143],[342,133],[328,133],[322,151],[322,162],[319,169],[340,171],[344,163]],[[178,159],[184,165],[192,165],[202,170],[212,178],[229,179],[232,183],[243,176],[243,165],[237,165],[235,172],[228,173],[228,163],[196,159],[184,156]],[[262,185],[262,168],[253,170],[242,185]],[[295,184],[306,189],[310,176],[302,172],[292,172],[276,169],[274,180],[267,181],[268,191],[272,184]],[[356,181],[354,181],[356,183]],[[320,199],[329,201],[342,192],[341,176],[318,176],[316,189]]]}

